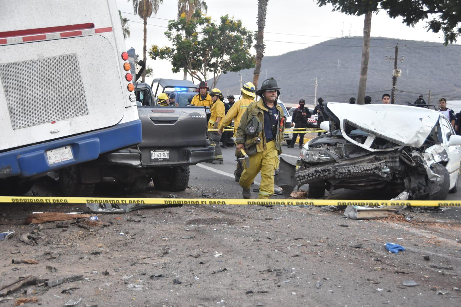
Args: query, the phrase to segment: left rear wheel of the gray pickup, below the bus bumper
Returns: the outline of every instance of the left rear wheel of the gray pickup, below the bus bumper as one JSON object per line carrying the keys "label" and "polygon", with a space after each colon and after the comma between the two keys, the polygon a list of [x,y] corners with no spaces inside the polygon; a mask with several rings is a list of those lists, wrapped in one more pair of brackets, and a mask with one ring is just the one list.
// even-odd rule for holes
{"label": "left rear wheel of the gray pickup, below the bus bumper", "polygon": [[64,196],[91,196],[95,191],[94,183],[85,184],[80,181],[76,166],[60,169],[58,182]]}

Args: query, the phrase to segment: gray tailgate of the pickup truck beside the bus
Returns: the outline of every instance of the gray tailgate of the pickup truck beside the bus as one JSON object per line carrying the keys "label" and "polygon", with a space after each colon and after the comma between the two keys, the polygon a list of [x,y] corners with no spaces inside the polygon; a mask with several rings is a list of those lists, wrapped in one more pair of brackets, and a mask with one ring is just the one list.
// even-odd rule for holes
{"label": "gray tailgate of the pickup truck beside the bus", "polygon": [[206,147],[205,107],[141,106],[142,143],[139,147]]}

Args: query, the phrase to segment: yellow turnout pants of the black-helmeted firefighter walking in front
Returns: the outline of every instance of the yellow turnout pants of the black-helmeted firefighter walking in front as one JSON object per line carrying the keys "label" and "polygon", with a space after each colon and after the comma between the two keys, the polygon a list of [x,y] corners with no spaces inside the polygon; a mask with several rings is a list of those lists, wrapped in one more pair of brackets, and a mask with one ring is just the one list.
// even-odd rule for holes
{"label": "yellow turnout pants of the black-helmeted firefighter walking in front", "polygon": [[250,156],[250,167],[243,170],[238,182],[242,188],[249,189],[254,177],[261,172],[258,198],[269,198],[274,195],[274,171],[278,168],[279,163],[275,141],[268,142],[266,148],[265,151]]}

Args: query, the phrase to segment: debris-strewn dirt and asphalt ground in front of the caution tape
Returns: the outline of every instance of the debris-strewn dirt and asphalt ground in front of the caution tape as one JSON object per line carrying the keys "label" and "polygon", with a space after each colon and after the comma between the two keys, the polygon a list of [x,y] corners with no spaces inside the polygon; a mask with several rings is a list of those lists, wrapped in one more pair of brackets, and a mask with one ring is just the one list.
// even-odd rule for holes
{"label": "debris-strewn dirt and asphalt ground in front of the caution tape", "polygon": [[[7,214],[38,208],[83,206],[24,204]],[[38,230],[4,219],[1,231],[15,234],[0,241],[0,284],[27,274],[83,275],[54,287],[23,286],[6,306],[22,297],[38,299],[25,306],[80,298],[77,306],[460,306],[459,221],[432,216],[418,215],[426,222],[415,225],[349,220],[319,207],[185,205],[99,216],[112,226],[56,228],[53,222]],[[36,244],[20,240],[33,232]],[[388,242],[406,250],[391,254]],[[351,247],[356,244],[362,248]],[[48,259],[49,251],[59,257]],[[12,264],[13,258],[38,264]],[[418,285],[404,286],[409,280]],[[66,288],[77,289],[62,293]]]}

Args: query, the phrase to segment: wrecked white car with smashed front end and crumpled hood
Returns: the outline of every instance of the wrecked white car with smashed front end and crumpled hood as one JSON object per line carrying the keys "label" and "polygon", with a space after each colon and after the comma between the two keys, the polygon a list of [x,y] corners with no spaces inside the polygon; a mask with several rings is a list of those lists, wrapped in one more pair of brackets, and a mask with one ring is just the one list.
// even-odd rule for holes
{"label": "wrecked white car with smashed front end and crumpled hood", "polygon": [[[311,139],[296,167],[281,161],[276,184],[290,195],[308,184],[310,198],[325,189],[408,191],[413,199],[445,200],[456,192],[461,136],[440,112],[392,104],[328,103],[329,131]],[[283,160],[283,159],[281,159]]]}

